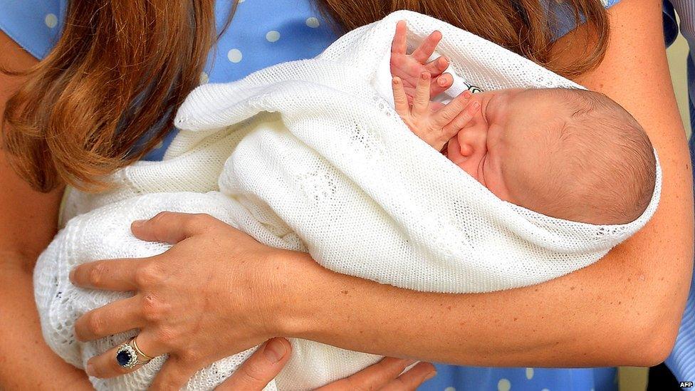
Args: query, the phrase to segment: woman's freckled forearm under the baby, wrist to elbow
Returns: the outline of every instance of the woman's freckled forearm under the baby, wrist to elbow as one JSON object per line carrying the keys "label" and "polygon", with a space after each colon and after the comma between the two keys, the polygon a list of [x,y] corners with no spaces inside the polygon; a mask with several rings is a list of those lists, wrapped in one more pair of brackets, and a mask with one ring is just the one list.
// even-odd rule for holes
{"label": "woman's freckled forearm under the baby, wrist to elbow", "polygon": [[281,333],[459,365],[652,365],[669,353],[681,308],[672,301],[687,284],[669,287],[669,271],[629,266],[628,256],[617,250],[538,286],[439,294],[340,275],[296,254],[302,266],[288,279],[301,283],[284,287],[291,313],[281,314]]}

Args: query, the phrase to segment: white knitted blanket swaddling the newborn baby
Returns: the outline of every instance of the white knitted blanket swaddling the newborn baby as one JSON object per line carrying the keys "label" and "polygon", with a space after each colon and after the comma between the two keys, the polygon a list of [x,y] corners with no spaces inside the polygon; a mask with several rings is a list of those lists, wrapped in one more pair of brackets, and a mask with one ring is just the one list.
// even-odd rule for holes
{"label": "white knitted blanket swaddling the newborn baby", "polygon": [[[441,31],[439,51],[449,57],[451,71],[481,88],[578,87],[471,33],[407,11],[348,33],[318,58],[203,85],[180,108],[182,132],[162,162],[116,172],[119,187],[108,194],[68,197],[67,224],[35,273],[51,348],[83,367],[132,335],[76,342],[76,318],[127,293],[75,288],[68,273],[95,259],[162,253],[169,246],[130,234],[131,221],[161,211],[211,214],[264,244],[308,251],[340,273],[451,293],[563,276],[600,259],[652,216],[659,170],[642,217],[595,226],[503,202],[419,140],[390,104],[390,43],[401,19],[408,21],[410,43]],[[271,387],[317,387],[380,359],[312,341],[291,343],[292,358]],[[199,371],[187,387],[211,389],[250,353]],[[92,380],[98,389],[145,389],[164,360]]]}

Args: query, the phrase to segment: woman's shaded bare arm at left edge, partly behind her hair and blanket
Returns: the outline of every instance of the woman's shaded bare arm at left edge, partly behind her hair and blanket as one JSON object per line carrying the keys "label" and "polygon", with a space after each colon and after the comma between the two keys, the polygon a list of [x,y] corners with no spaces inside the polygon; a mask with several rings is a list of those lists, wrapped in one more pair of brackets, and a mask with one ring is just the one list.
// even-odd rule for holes
{"label": "woman's shaded bare arm at left edge, partly behind her hair and blanket", "polygon": [[[24,70],[36,63],[0,32],[0,67]],[[0,73],[0,120],[21,78]],[[90,387],[85,373],[43,342],[33,298],[36,258],[56,234],[62,189],[33,191],[0,150],[0,389],[67,390]]]}

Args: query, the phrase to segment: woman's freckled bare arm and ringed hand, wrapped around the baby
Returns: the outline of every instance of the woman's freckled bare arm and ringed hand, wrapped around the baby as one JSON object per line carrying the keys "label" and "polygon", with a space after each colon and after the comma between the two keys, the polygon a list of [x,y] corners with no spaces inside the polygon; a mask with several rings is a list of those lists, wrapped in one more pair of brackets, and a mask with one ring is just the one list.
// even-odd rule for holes
{"label": "woman's freckled bare arm and ringed hand, wrapped around the baby", "polygon": [[[140,328],[144,351],[169,353],[158,384],[183,384],[213,360],[273,336],[462,365],[661,362],[672,348],[691,278],[691,171],[658,1],[623,0],[610,19],[607,58],[580,81],[642,122],[659,149],[664,188],[652,221],[596,264],[509,291],[422,293],[333,273],[307,254],[261,246],[209,216],[163,213],[132,231],[174,244],[166,253],[97,261],[71,273],[78,286],[137,291],[135,300],[86,313],[75,333],[93,340]],[[113,355],[92,358],[93,373],[127,372]]]}

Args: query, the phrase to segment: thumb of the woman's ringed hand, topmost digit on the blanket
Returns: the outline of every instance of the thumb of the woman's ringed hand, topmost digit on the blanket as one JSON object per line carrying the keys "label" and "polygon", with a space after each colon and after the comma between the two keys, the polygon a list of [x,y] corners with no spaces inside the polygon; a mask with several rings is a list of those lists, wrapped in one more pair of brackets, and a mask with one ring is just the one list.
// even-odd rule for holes
{"label": "thumb of the woman's ringed hand, topmost digit on the blanket", "polygon": [[207,214],[161,212],[149,220],[133,221],[130,230],[137,239],[177,244],[217,223]]}

